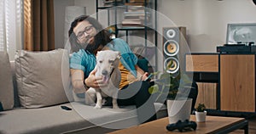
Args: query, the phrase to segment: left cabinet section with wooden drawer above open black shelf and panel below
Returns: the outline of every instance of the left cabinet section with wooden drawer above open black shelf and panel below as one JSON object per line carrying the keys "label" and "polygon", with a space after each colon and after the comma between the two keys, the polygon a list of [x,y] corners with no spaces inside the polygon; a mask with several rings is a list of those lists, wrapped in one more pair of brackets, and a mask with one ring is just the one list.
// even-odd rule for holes
{"label": "left cabinet section with wooden drawer above open black shelf and panel below", "polygon": [[205,103],[207,109],[217,108],[217,89],[218,83],[212,81],[215,73],[215,79],[218,80],[218,54],[187,54],[186,55],[186,72],[194,73],[194,79],[198,85],[198,96],[195,105]]}

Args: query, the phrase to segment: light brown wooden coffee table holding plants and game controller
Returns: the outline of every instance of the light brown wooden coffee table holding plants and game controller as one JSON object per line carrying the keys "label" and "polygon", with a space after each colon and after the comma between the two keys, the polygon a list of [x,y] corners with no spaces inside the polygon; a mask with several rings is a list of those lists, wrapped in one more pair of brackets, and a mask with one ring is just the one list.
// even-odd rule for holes
{"label": "light brown wooden coffee table holding plants and game controller", "polygon": [[[195,115],[191,115],[190,120],[195,121]],[[139,126],[132,126],[130,128],[122,129],[119,131],[113,131],[111,134],[125,133],[125,134],[158,134],[158,133],[179,133],[181,132],[168,131],[166,126],[168,125],[168,118],[162,118],[160,120],[154,120]],[[244,133],[248,133],[248,121],[244,118],[233,118],[233,117],[220,117],[220,116],[209,116],[207,115],[206,122],[196,122],[197,128],[195,131],[185,131],[183,133],[195,134],[195,133],[229,133],[236,131],[237,129],[243,129]]]}

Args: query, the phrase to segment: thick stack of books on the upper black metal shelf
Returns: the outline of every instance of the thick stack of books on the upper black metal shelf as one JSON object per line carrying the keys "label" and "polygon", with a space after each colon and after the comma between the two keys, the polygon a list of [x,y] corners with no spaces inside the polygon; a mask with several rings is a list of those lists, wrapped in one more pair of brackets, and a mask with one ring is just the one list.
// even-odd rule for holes
{"label": "thick stack of books on the upper black metal shelf", "polygon": [[148,21],[150,14],[144,7],[144,3],[125,3],[127,11],[124,12],[122,26],[143,27],[145,20]]}

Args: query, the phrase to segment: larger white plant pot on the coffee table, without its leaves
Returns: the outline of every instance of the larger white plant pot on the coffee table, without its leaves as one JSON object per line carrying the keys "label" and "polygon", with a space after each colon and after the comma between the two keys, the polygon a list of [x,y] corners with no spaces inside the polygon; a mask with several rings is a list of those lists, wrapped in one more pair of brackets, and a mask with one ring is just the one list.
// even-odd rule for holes
{"label": "larger white plant pot on the coffee table, without its leaves", "polygon": [[166,103],[170,124],[190,119],[192,98],[168,99]]}

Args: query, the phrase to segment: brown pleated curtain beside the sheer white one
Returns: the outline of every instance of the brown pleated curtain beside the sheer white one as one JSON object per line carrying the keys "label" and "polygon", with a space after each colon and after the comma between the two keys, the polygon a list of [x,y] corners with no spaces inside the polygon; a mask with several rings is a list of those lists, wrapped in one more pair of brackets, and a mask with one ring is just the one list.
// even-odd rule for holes
{"label": "brown pleated curtain beside the sheer white one", "polygon": [[54,0],[24,0],[24,49],[55,49]]}

